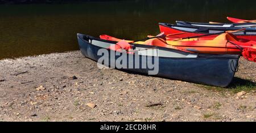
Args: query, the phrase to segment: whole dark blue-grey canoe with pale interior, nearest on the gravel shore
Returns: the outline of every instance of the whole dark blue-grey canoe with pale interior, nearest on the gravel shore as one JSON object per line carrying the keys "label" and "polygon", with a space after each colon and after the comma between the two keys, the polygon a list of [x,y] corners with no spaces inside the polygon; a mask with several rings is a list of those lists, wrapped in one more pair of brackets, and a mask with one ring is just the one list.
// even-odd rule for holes
{"label": "whole dark blue-grey canoe with pale interior, nearest on the gravel shore", "polygon": [[[140,44],[132,44],[135,53],[127,54],[126,52],[119,53],[108,49],[109,46],[115,45],[116,42],[114,41],[102,40],[82,34],[77,34],[77,38],[81,53],[86,58],[98,61],[103,55],[98,54],[99,50],[105,49],[109,52],[109,54],[105,55],[109,60],[108,62],[102,62],[103,65],[117,68],[113,65],[113,62],[117,61],[119,57],[125,54],[127,62],[123,63],[126,63],[127,66],[133,64],[131,65],[133,67],[118,69],[148,75],[150,71],[152,71],[152,67],[147,65],[146,67],[143,66],[147,64],[150,59],[154,63],[154,59],[157,58],[158,73],[154,76],[220,87],[226,87],[230,84],[237,70],[238,59],[240,58],[240,55],[195,54],[170,48]],[[152,53],[152,50],[156,50],[158,54],[148,54]],[[118,54],[112,56],[110,55],[111,52]],[[139,68],[134,68],[135,62],[139,62]]]}

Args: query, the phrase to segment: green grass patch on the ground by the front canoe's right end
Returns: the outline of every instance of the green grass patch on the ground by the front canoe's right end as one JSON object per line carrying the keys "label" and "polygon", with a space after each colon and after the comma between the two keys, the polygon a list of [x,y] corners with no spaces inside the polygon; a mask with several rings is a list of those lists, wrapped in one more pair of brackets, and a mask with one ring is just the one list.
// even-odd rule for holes
{"label": "green grass patch on the ground by the front canoe's right end", "polygon": [[[200,85],[201,87],[204,87],[205,89],[208,89],[209,91],[228,91],[232,93],[237,93],[241,91],[250,92],[256,90],[256,83],[254,83],[251,80],[245,80],[240,78],[234,78],[232,83],[228,87],[213,87],[209,85]],[[225,93],[221,93],[221,95],[225,95]]]}

